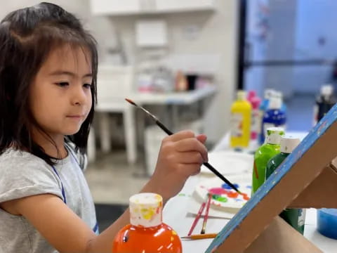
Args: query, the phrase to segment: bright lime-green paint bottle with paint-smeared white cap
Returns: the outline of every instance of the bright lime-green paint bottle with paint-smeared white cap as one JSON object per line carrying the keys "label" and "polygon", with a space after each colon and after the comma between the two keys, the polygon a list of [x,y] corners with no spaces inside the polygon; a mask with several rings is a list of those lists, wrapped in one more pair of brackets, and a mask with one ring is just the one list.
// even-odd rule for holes
{"label": "bright lime-green paint bottle with paint-smeared white cap", "polygon": [[266,134],[265,144],[261,145],[254,155],[252,195],[265,183],[267,162],[280,152],[279,144],[281,137],[284,136],[284,129],[282,127],[270,127]]}

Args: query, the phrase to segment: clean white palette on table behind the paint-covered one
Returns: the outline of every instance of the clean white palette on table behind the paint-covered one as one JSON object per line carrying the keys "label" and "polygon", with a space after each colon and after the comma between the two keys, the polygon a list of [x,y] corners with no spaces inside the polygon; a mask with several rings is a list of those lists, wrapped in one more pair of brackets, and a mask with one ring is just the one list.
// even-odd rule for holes
{"label": "clean white palette on table behind the paint-covered one", "polygon": [[[209,153],[209,163],[223,175],[249,173],[253,168],[253,160],[253,155],[233,151]],[[201,173],[213,174],[204,166],[201,166]]]}

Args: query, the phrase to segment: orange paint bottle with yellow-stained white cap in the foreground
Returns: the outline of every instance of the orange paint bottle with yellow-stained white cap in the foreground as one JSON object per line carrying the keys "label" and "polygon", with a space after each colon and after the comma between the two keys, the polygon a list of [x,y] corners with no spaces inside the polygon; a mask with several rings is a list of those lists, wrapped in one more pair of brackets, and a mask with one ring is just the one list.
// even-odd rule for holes
{"label": "orange paint bottle with yellow-stained white cap in the foreground", "polygon": [[113,253],[181,253],[180,238],[162,222],[163,199],[155,193],[130,197],[130,224],[114,238]]}

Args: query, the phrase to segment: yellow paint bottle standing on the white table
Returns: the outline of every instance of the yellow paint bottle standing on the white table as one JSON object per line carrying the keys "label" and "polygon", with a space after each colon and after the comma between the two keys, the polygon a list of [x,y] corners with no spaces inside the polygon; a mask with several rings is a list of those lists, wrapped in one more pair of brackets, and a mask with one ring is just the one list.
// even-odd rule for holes
{"label": "yellow paint bottle standing on the white table", "polygon": [[244,91],[237,91],[237,100],[230,109],[230,146],[246,148],[251,137],[251,104]]}

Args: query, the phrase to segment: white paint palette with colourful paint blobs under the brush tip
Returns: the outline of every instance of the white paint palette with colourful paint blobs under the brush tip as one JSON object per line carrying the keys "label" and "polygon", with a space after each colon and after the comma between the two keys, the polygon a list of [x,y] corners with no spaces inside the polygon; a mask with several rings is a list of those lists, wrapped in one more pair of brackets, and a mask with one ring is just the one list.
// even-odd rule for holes
{"label": "white paint palette with colourful paint blobs under the brush tip", "polygon": [[237,212],[251,196],[251,174],[227,176],[243,193],[239,195],[227,183],[218,178],[201,181],[194,189],[194,197],[199,201],[206,200],[206,195],[212,193],[211,207],[225,212]]}

